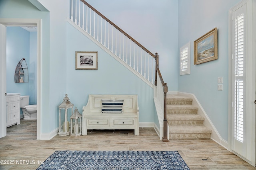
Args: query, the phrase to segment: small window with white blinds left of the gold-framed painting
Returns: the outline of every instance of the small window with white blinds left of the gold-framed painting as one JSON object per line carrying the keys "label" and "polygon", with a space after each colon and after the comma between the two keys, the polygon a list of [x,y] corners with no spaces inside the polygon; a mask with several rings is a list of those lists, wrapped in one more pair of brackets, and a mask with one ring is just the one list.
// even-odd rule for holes
{"label": "small window with white blinds left of the gold-framed painting", "polygon": [[190,42],[180,48],[180,75],[190,74]]}

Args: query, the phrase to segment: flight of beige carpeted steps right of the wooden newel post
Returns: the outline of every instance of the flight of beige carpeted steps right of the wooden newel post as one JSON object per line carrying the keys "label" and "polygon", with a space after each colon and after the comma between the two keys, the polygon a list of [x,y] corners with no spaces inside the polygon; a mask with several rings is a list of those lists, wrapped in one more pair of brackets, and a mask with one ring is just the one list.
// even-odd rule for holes
{"label": "flight of beige carpeted steps right of the wooden newel post", "polygon": [[212,130],[204,126],[204,117],[197,114],[192,98],[167,95],[169,139],[209,139]]}

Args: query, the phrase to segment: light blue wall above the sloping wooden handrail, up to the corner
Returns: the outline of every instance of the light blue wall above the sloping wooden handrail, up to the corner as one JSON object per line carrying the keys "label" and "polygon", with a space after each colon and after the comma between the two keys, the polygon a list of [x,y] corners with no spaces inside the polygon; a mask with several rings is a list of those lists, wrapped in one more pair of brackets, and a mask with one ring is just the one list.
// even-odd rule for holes
{"label": "light blue wall above the sloping wooden handrail, up to the corner", "polygon": [[178,0],[86,0],[153,54],[169,91],[177,91]]}

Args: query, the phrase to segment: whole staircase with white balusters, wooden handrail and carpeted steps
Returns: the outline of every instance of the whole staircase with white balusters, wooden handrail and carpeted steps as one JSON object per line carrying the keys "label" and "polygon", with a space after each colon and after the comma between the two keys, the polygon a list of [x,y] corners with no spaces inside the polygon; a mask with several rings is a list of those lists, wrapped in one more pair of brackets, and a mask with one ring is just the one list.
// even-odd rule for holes
{"label": "whole staircase with white balusters, wooden handrail and carpeted steps", "polygon": [[204,117],[197,114],[191,98],[168,95],[166,99],[168,86],[160,73],[157,53],[148,51],[85,0],[71,0],[70,9],[70,24],[154,88],[160,139],[168,141],[167,125],[169,139],[211,137],[212,131],[204,126]]}

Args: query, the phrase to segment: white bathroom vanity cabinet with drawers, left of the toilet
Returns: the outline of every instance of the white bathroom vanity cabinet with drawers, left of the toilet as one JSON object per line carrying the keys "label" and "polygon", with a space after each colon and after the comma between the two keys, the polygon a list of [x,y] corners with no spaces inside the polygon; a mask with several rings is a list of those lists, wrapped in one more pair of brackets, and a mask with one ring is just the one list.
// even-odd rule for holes
{"label": "white bathroom vanity cabinet with drawers, left of the toilet", "polygon": [[6,127],[20,124],[20,94],[7,93],[6,106]]}

